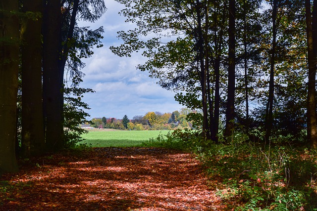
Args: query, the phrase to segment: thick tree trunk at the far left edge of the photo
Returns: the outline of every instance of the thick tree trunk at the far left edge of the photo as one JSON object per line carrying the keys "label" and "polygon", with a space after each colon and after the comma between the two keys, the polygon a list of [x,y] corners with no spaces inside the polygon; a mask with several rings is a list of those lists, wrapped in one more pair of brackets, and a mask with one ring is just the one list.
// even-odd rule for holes
{"label": "thick tree trunk at the far left edge of the photo", "polygon": [[0,174],[16,172],[16,103],[19,70],[18,0],[0,0]]}

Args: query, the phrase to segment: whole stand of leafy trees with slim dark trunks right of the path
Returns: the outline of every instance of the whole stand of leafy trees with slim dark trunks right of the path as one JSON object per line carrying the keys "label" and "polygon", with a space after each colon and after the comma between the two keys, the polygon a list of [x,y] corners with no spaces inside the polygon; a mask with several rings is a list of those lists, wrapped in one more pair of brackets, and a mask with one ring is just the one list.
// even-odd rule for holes
{"label": "whole stand of leafy trees with slim dark trunks right of the path", "polygon": [[264,142],[282,135],[316,146],[316,62],[310,65],[309,51],[315,2],[117,1],[136,28],[118,32],[124,43],[111,50],[142,51],[147,61],[138,68],[178,91],[181,104],[202,110],[188,118],[207,139],[237,131],[252,139],[261,131]]}

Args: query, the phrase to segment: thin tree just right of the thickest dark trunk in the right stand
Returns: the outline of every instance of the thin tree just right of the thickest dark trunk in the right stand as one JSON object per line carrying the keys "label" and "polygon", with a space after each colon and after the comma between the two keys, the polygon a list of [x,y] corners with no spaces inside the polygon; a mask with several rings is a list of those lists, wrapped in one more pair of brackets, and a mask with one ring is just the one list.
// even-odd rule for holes
{"label": "thin tree just right of the thickest dark trunk in the right stand", "polygon": [[[240,23],[238,22],[237,25],[242,25],[241,28],[238,28],[236,31],[237,33],[237,39],[240,37],[240,43],[241,46],[243,46],[243,49],[241,49],[241,62],[237,62],[237,67],[241,67],[243,70],[243,78],[239,79],[239,72],[236,73],[237,75],[237,85],[236,85],[236,109],[239,109],[239,106],[241,108],[241,113],[245,113],[245,121],[243,123],[240,122],[243,126],[245,126],[246,134],[249,135],[249,129],[250,129],[250,108],[249,108],[249,102],[252,99],[252,91],[253,87],[252,84],[254,83],[254,80],[257,78],[257,75],[255,74],[253,66],[259,61],[261,61],[260,58],[260,50],[257,48],[258,42],[260,42],[261,39],[261,32],[262,32],[262,25],[261,21],[263,20],[261,13],[257,10],[259,8],[259,5],[261,4],[262,0],[243,0],[243,5],[241,7],[242,11],[237,11],[237,14],[239,13],[242,15],[240,18]],[[237,19],[239,21],[239,19]],[[242,32],[239,36],[239,32]],[[237,40],[238,46],[240,45],[239,40]],[[261,48],[260,48],[261,49]],[[239,47],[237,49],[239,51]],[[237,55],[238,57],[238,55]],[[239,82],[241,85],[239,85]],[[244,84],[243,84],[244,83]],[[240,87],[239,87],[240,86]],[[243,90],[244,89],[244,90]],[[241,91],[239,91],[241,90]],[[244,95],[244,105],[243,99],[239,100],[239,92],[240,96]],[[242,98],[241,96],[241,98]],[[237,102],[238,101],[238,102]],[[241,105],[239,105],[239,101],[241,101]],[[238,113],[237,111],[236,113]],[[240,116],[238,114],[238,116]],[[243,115],[241,115],[243,116]]]}

